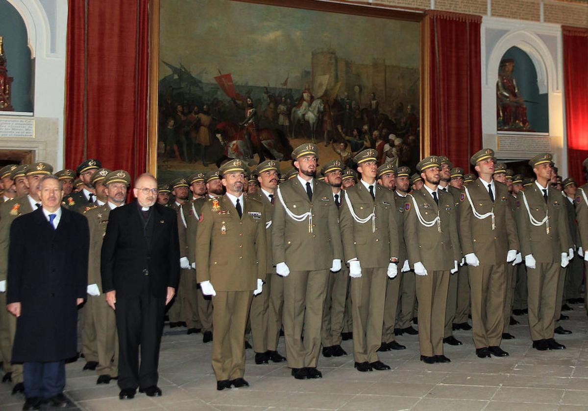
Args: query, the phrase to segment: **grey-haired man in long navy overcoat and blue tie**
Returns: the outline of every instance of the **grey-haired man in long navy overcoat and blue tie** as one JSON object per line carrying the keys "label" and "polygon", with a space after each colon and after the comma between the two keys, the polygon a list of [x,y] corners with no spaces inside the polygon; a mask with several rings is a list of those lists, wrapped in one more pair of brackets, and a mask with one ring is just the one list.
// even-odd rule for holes
{"label": "grey-haired man in long navy overcoat and blue tie", "polygon": [[88,283],[88,220],[61,207],[62,183],[41,179],[42,206],[10,229],[6,309],[16,316],[12,362],[24,363],[24,410],[66,407],[65,359],[76,356],[76,306]]}

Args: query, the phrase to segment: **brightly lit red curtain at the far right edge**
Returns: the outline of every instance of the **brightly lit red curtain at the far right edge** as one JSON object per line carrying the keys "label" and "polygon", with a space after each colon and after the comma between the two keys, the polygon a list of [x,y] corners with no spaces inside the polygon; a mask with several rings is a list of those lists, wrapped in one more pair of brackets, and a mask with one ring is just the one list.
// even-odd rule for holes
{"label": "brightly lit red curtain at the far right edge", "polygon": [[562,33],[568,173],[583,184],[582,161],[588,157],[588,29],[563,26]]}

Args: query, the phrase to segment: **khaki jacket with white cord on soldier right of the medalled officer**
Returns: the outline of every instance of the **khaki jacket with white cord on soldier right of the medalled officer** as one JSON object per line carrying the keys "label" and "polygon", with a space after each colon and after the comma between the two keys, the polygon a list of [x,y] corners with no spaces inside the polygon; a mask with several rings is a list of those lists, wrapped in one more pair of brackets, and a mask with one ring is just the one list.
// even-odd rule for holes
{"label": "khaki jacket with white cord on soldier right of the medalled officer", "polygon": [[313,178],[312,186],[311,203],[306,187],[302,187],[298,178],[279,185],[283,201],[293,214],[312,214],[312,227],[308,218],[304,221],[290,218],[279,198],[276,198],[273,208],[273,261],[276,264],[286,262],[291,271],[329,269],[333,260],[342,260],[343,257],[333,191],[328,184],[316,178]]}

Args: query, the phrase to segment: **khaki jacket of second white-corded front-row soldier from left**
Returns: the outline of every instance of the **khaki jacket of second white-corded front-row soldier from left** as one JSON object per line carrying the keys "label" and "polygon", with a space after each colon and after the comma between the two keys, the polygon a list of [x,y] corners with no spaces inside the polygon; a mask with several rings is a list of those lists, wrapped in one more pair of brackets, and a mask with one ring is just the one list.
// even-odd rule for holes
{"label": "khaki jacket of second white-corded front-row soldier from left", "polygon": [[398,258],[398,225],[392,191],[375,185],[375,200],[362,183],[349,187],[346,196],[359,219],[372,211],[375,218],[359,223],[353,218],[346,200],[341,203],[341,239],[347,261],[357,258],[363,268],[384,268],[390,258]]}

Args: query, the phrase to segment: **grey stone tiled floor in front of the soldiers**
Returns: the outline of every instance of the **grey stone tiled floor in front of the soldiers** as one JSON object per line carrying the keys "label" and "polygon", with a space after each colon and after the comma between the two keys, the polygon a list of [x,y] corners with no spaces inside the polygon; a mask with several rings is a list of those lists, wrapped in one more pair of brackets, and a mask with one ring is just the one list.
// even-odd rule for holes
{"label": "grey stone tiled floor in front of the soldiers", "polygon": [[[566,312],[559,336],[563,351],[539,352],[531,348],[526,316],[512,326],[517,338],[505,341],[506,358],[479,359],[470,332],[455,336],[463,346],[446,346],[451,363],[426,365],[419,361],[417,336],[399,336],[405,351],[382,353],[392,370],[360,373],[351,355],[319,360],[323,378],[295,380],[285,363],[255,365],[247,351],[245,378],[250,388],[216,390],[211,369],[211,345],[202,335],[185,335],[166,328],[163,337],[159,386],[163,396],[138,394],[118,399],[115,383],[96,386],[96,375],[82,372],[82,361],[67,366],[66,394],[84,410],[588,410],[588,321],[582,305]],[[343,342],[347,352],[352,342]],[[284,353],[283,341],[280,352]],[[0,385],[0,409],[21,409],[24,397],[12,396]]]}

